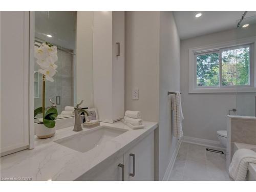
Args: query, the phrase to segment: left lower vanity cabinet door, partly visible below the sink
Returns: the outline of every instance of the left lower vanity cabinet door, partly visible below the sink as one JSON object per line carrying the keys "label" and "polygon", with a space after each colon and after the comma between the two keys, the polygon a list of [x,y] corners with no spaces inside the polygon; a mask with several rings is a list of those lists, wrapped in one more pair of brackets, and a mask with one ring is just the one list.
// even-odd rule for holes
{"label": "left lower vanity cabinet door, partly visible below the sink", "polygon": [[76,179],[77,181],[121,181],[122,180],[122,167],[123,165],[123,155],[113,161],[111,164],[104,165],[99,171],[92,170],[89,173]]}

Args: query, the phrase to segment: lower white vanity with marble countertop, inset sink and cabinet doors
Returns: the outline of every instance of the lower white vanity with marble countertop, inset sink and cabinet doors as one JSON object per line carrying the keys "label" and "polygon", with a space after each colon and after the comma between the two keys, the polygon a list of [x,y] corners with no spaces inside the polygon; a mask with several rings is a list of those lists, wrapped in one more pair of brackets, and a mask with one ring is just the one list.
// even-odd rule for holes
{"label": "lower white vanity with marble countertop, inset sink and cabinet doors", "polygon": [[118,121],[73,132],[59,129],[52,138],[37,139],[33,150],[1,157],[1,177],[31,180],[154,180],[154,130],[143,121],[132,130]]}

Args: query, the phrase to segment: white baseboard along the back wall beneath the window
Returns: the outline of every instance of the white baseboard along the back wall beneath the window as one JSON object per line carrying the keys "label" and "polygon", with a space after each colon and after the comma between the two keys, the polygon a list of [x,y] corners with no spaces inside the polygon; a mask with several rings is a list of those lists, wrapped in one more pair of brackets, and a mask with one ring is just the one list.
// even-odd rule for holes
{"label": "white baseboard along the back wall beneath the window", "polygon": [[184,136],[182,138],[182,142],[197,144],[197,145],[206,146],[206,147],[211,147],[211,148],[215,148],[216,150],[222,150],[222,151],[226,152],[226,148],[224,148],[222,146],[220,141],[214,141],[214,140]]}

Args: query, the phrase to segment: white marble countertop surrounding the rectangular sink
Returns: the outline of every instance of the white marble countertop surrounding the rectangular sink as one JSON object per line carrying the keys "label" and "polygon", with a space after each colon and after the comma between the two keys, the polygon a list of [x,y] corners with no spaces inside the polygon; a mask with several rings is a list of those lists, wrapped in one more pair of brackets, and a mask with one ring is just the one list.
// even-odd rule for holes
{"label": "white marble countertop surrounding the rectangular sink", "polygon": [[38,139],[35,137],[33,150],[24,150],[0,158],[1,178],[29,177],[39,181],[75,180],[89,170],[100,168],[99,164],[122,155],[158,126],[158,123],[148,121],[143,121],[143,124],[144,129],[132,130],[121,121],[100,123],[100,126],[118,127],[129,131],[86,153],[72,150],[54,141],[89,129],[73,132],[73,126],[71,126],[57,130],[52,138]]}

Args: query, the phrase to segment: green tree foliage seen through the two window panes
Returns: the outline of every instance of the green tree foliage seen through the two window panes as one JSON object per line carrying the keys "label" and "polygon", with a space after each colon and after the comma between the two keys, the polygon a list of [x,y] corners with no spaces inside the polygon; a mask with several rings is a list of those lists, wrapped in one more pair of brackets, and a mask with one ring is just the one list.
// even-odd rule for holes
{"label": "green tree foliage seen through the two window panes", "polygon": [[[247,86],[250,84],[249,52],[249,47],[221,52],[222,86]],[[197,86],[219,86],[219,59],[219,52],[197,56]]]}

